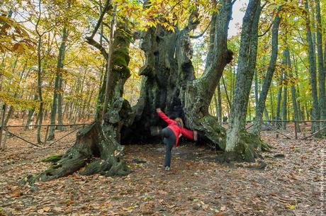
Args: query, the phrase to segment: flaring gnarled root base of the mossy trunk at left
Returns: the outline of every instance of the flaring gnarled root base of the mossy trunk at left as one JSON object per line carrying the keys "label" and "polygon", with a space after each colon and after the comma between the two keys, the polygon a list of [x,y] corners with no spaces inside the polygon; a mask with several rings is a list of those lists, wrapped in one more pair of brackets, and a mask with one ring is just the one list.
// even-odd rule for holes
{"label": "flaring gnarled root base of the mossy trunk at left", "polygon": [[[77,134],[77,140],[73,147],[62,156],[49,169],[36,176],[26,176],[19,183],[30,185],[36,181],[50,181],[55,178],[68,176],[86,165],[86,161],[94,157],[100,157],[91,162],[82,175],[102,174],[104,176],[128,174],[128,167],[123,161],[120,161],[123,147],[111,137],[105,137],[99,123],[95,122]],[[57,157],[52,158],[57,159]],[[50,157],[46,159],[51,161]]]}

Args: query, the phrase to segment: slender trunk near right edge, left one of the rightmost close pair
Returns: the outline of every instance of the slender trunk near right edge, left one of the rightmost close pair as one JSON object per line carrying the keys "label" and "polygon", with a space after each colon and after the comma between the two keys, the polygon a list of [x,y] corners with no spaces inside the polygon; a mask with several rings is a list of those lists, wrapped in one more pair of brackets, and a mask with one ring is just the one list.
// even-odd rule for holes
{"label": "slender trunk near right edge, left one of the rightmost close pair", "polygon": [[[309,72],[310,72],[310,84],[311,91],[313,94],[313,113],[312,120],[320,119],[320,112],[318,106],[318,96],[317,96],[317,80],[316,80],[316,60],[315,60],[315,52],[313,45],[313,38],[310,30],[310,18],[309,18],[309,8],[308,8],[308,0],[305,0],[305,26],[306,26],[306,35],[308,42],[308,57],[309,57]],[[319,124],[312,123],[312,132],[316,132],[319,129]]]}

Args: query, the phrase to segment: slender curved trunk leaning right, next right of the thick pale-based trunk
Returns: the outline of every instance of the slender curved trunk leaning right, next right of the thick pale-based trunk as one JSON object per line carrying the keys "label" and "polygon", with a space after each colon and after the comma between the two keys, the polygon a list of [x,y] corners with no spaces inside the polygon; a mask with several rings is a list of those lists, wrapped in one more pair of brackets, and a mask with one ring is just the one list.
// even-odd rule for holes
{"label": "slender curved trunk leaning right, next right of the thick pale-based trunk", "polygon": [[[279,11],[280,11],[280,9],[279,9]],[[269,60],[269,67],[266,72],[266,76],[265,76],[264,83],[262,86],[262,91],[259,96],[259,101],[257,102],[257,105],[256,105],[256,117],[254,118],[254,127],[252,130],[252,132],[254,132],[254,134],[256,134],[256,135],[259,135],[259,133],[261,131],[263,110],[266,109],[266,99],[267,99],[267,95],[269,93],[269,89],[271,86],[271,81],[273,79],[273,75],[275,72],[276,60],[277,60],[277,55],[278,55],[278,46],[279,46],[279,24],[280,23],[281,23],[281,18],[279,17],[279,15],[277,15],[275,17],[272,32],[271,32],[271,59]],[[258,84],[258,81],[257,81],[257,84]],[[257,88],[258,88],[258,86],[257,86]],[[280,91],[282,91],[281,88],[280,88]],[[258,97],[258,93],[257,93],[257,97]],[[281,97],[280,97],[280,100],[281,100]],[[276,111],[276,115],[278,112],[279,112],[279,103],[278,103],[278,110]]]}

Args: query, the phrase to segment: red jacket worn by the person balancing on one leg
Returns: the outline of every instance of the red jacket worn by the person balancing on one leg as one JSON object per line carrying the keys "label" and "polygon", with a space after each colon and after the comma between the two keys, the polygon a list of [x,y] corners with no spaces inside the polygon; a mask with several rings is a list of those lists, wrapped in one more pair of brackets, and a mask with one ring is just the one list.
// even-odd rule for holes
{"label": "red jacket worn by the person balancing on one leg", "polygon": [[159,117],[167,123],[167,127],[169,127],[174,132],[174,135],[176,135],[176,143],[174,144],[174,147],[178,145],[180,135],[184,135],[186,138],[193,140],[192,130],[188,130],[184,127],[177,125],[175,120],[172,120],[171,118],[167,117],[167,115],[165,115],[162,111],[159,111],[158,114]]}

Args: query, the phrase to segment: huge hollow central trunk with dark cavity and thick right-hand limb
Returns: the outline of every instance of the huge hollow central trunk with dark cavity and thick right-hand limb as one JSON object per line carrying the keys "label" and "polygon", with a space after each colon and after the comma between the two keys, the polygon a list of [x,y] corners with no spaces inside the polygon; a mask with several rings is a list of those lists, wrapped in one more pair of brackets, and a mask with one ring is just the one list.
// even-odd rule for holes
{"label": "huge hollow central trunk with dark cavity and thick right-hand limb", "polygon": [[145,78],[142,79],[139,102],[133,108],[135,122],[125,130],[123,142],[152,141],[149,127],[161,123],[155,112],[155,108],[159,107],[168,115],[181,116],[186,127],[198,130],[210,142],[223,147],[220,138],[225,138],[225,131],[218,125],[217,118],[208,114],[220,76],[232,58],[232,53],[227,50],[227,25],[232,4],[228,0],[222,2],[220,13],[212,16],[210,32],[213,32],[213,39],[210,40],[213,40],[213,47],[210,47],[208,64],[200,79],[194,76],[189,35],[198,25],[196,11],[182,30],[176,27],[173,33],[157,26],[142,35],[141,48],[146,62],[140,75]]}

